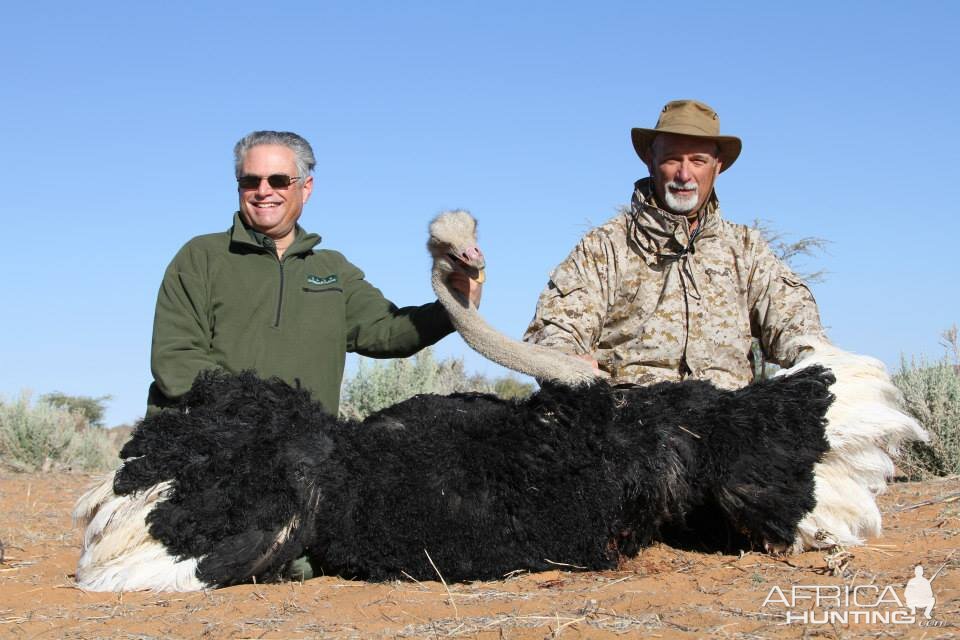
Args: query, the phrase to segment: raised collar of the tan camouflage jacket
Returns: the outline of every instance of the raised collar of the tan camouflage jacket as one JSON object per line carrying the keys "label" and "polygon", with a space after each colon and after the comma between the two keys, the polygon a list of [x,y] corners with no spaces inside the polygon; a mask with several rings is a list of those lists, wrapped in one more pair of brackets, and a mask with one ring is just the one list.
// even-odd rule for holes
{"label": "raised collar of the tan camouflage jacket", "polygon": [[[700,228],[693,242],[716,235],[720,223],[720,202],[717,193],[710,194],[701,214]],[[692,248],[686,216],[670,213],[660,207],[650,178],[637,180],[628,213],[627,236],[636,245],[637,253],[656,264],[661,257],[676,258]]]}

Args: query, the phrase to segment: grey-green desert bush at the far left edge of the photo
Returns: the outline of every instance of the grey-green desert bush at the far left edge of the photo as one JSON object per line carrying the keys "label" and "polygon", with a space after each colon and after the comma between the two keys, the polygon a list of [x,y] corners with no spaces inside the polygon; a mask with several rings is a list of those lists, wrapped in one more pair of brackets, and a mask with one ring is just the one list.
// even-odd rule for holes
{"label": "grey-green desert bush at the far left edge of the photo", "polygon": [[90,428],[75,412],[47,402],[31,403],[23,392],[0,402],[0,464],[16,471],[114,467],[117,449],[103,429]]}

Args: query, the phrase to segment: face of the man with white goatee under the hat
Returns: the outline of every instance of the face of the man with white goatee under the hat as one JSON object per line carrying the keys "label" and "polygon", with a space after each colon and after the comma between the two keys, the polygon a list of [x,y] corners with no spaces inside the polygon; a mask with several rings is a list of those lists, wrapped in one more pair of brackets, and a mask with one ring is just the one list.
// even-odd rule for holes
{"label": "face of the man with white goatee under the hat", "polygon": [[664,209],[688,217],[710,198],[723,165],[716,143],[672,133],[658,135],[643,160]]}

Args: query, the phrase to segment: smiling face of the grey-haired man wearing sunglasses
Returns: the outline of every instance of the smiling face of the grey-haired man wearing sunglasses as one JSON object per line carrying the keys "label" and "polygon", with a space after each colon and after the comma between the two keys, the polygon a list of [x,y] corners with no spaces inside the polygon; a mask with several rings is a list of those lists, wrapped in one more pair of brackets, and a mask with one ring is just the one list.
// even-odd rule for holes
{"label": "smiling face of the grey-haired man wearing sunglasses", "polygon": [[[252,147],[243,158],[240,169],[241,176],[266,178],[277,173],[290,177],[300,175],[293,150],[278,144]],[[244,221],[260,233],[282,243],[293,239],[303,205],[313,192],[313,177],[301,176],[286,188],[271,187],[263,179],[255,189],[241,188],[238,191],[240,214]]]}

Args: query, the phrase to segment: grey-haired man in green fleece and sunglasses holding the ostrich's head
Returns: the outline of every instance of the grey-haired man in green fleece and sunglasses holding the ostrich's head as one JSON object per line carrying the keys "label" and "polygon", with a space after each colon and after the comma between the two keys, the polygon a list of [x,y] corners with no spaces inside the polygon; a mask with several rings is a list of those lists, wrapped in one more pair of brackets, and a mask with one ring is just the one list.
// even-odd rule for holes
{"label": "grey-haired man in green fleece and sunglasses holding the ostrich's head", "polygon": [[[320,236],[297,224],[313,192],[310,144],[295,133],[254,131],[234,147],[240,210],[233,226],[190,240],[157,295],[147,414],[175,406],[205,369],[253,369],[299,382],[331,414],[346,352],[400,358],[453,331],[438,302],[398,309]],[[475,304],[480,283],[450,283]],[[314,575],[307,557],[287,575]]]}

